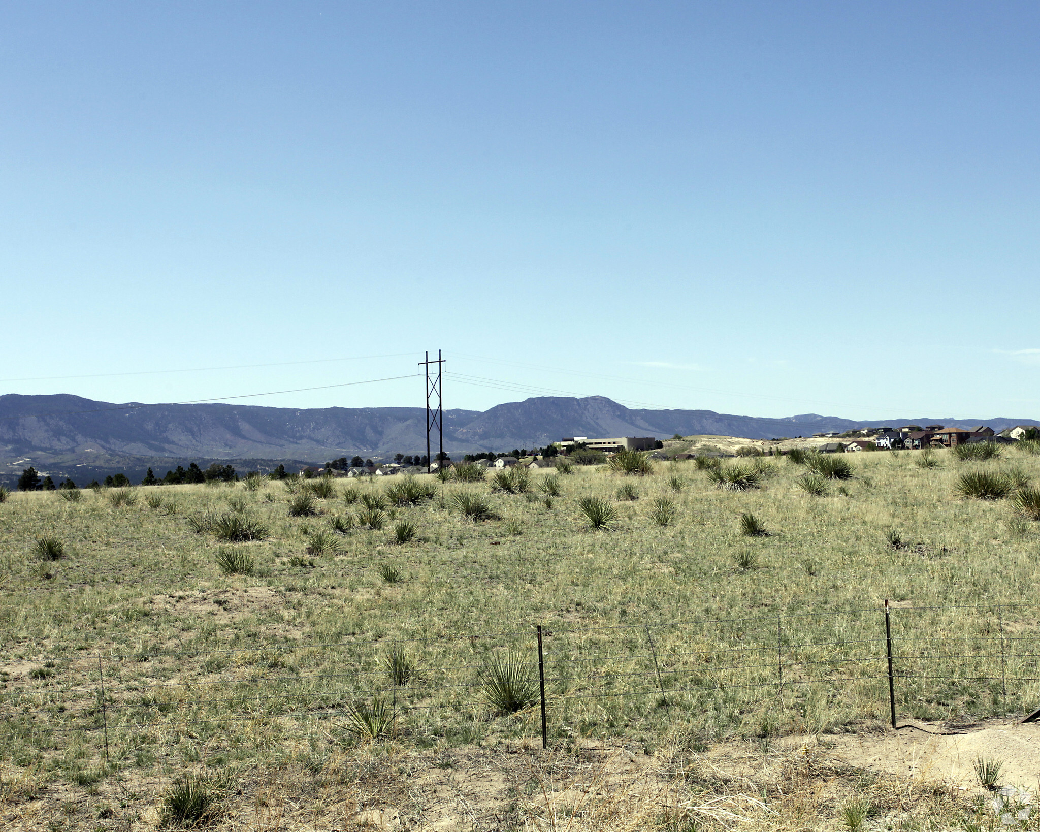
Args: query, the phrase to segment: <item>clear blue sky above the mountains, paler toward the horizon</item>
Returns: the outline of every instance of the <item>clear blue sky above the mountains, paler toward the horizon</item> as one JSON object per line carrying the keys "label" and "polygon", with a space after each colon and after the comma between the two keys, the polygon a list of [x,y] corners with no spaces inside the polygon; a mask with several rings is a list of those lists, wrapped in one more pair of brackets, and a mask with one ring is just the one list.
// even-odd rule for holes
{"label": "clear blue sky above the mountains, paler toward the horizon", "polygon": [[1035,3],[0,3],[0,392],[1040,417],[1038,59]]}

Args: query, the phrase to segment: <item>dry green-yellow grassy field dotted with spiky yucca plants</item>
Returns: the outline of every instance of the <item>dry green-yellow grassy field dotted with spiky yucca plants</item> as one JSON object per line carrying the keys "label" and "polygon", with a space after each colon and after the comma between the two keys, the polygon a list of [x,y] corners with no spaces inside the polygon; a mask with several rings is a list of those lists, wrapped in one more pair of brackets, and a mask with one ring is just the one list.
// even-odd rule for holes
{"label": "dry green-yellow grassy field dotted with spiky yucca plants", "polygon": [[[409,791],[420,769],[520,750],[527,774],[496,808],[499,827],[557,828],[537,797],[556,794],[545,780],[595,746],[664,761],[654,782],[674,800],[649,801],[639,824],[630,808],[579,823],[572,811],[574,828],[725,826],[683,803],[716,786],[679,776],[714,744],[764,753],[784,737],[887,721],[884,599],[901,716],[1032,710],[1040,684],[1022,679],[1040,675],[1029,648],[1037,616],[1016,605],[1033,600],[1036,523],[956,486],[973,471],[1036,482],[1040,457],[932,457],[924,467],[916,451],[846,454],[852,478],[826,479],[817,496],[786,459],[758,460],[759,487],[747,491],[683,462],[646,476],[532,472],[516,494],[493,492],[490,475],[422,476],[432,499],[382,509],[392,482],[339,479],[311,494],[315,514],[296,517],[306,488],[295,480],[296,493],[262,482],[78,501],[14,494],[0,503],[0,809],[24,828],[150,828],[176,822],[164,797],[187,778],[225,807],[246,801],[253,826],[384,823],[365,815],[382,795],[396,801],[395,824],[426,828],[431,799]],[[486,500],[494,519],[466,519],[462,495]],[[589,497],[613,510],[609,528],[589,528]],[[261,539],[219,540],[242,527]],[[490,698],[496,672],[511,669],[515,712]],[[595,776],[615,776],[615,763],[604,757]],[[278,799],[261,800],[264,788]],[[349,823],[304,820],[306,795],[342,804]],[[281,801],[278,824],[264,801]],[[477,809],[459,812],[438,828],[484,828]],[[213,822],[241,816],[226,808]],[[791,828],[805,826],[798,816]],[[826,826],[839,810],[813,816]]]}

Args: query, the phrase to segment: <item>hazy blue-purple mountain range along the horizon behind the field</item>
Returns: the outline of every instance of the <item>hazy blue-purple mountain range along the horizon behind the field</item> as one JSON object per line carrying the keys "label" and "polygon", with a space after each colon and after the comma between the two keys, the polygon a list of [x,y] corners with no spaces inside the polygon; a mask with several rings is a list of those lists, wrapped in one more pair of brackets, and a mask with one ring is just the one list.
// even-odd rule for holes
{"label": "hazy blue-purple mountain range along the horizon behind the field", "polygon": [[[604,396],[540,396],[483,412],[446,410],[444,449],[451,454],[501,451],[543,446],[565,436],[667,439],[674,434],[714,434],[770,439],[909,423],[969,427],[985,422],[1000,431],[1033,421],[918,417],[864,422],[814,413],[769,419],[709,410],[632,410]],[[425,452],[425,447],[422,408],[144,405],[67,394],[0,395],[4,479],[28,464],[41,470],[55,464],[62,469],[136,469],[152,460],[158,472],[159,466],[176,467],[185,460],[303,464],[355,453],[379,459]]]}

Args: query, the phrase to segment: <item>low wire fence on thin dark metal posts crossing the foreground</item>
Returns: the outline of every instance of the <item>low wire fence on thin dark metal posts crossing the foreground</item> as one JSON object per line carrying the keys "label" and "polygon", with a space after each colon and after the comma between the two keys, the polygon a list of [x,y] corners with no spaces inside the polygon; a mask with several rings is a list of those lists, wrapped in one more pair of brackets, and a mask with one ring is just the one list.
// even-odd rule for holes
{"label": "low wire fence on thin dark metal posts crossing the foreground", "polygon": [[399,735],[439,736],[501,711],[495,691],[504,669],[520,706],[512,730],[543,743],[550,733],[676,713],[811,727],[821,712],[840,711],[895,726],[908,717],[1040,705],[1038,606],[885,602],[601,627],[78,652],[7,682],[0,714],[26,744],[103,743],[106,752],[119,744],[121,753],[150,737],[212,737],[243,725],[285,737],[320,721],[328,731],[376,705]]}

